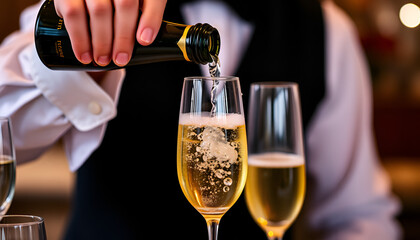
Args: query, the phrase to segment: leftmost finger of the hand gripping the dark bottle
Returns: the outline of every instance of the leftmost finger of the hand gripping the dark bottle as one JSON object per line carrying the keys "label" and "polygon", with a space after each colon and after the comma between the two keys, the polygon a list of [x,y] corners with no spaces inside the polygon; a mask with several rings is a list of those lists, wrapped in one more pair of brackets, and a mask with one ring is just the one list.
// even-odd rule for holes
{"label": "leftmost finger of the hand gripping the dark bottle", "polygon": [[92,62],[91,40],[84,1],[56,0],[55,9],[65,22],[76,58],[84,64]]}

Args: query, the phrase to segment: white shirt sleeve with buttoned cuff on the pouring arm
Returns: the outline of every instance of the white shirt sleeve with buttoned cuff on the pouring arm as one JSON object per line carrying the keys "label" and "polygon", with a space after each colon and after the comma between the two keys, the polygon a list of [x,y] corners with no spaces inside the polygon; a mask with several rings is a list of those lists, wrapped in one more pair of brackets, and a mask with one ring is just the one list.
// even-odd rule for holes
{"label": "white shirt sleeve with buttoned cuff on the pouring arm", "polygon": [[[106,123],[116,115],[124,70],[104,82],[80,71],[52,71],[35,50],[34,25],[40,5],[21,15],[21,30],[0,46],[0,115],[12,120],[18,163],[32,160],[62,138],[71,170],[77,170],[99,146]],[[109,88],[107,88],[109,89]]]}

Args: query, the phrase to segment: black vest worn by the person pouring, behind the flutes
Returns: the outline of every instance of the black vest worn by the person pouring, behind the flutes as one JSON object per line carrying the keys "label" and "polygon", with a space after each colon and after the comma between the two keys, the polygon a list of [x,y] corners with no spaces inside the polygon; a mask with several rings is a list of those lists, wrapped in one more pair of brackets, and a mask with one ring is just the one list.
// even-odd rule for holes
{"label": "black vest worn by the person pouring, behind the flutes", "polygon": [[[306,128],[325,88],[320,4],[273,0],[269,2],[276,6],[259,6],[261,10],[250,12],[236,2],[243,3],[229,4],[256,26],[236,74],[244,109],[252,82],[297,82]],[[168,1],[166,20],[183,22],[179,3]],[[257,13],[271,14],[271,21],[256,17]],[[127,69],[118,115],[108,123],[101,146],[77,171],[65,239],[207,239],[205,220],[184,197],[176,171],[182,82],[194,75],[201,75],[199,67],[188,62]],[[243,196],[223,216],[219,239],[266,239]]]}

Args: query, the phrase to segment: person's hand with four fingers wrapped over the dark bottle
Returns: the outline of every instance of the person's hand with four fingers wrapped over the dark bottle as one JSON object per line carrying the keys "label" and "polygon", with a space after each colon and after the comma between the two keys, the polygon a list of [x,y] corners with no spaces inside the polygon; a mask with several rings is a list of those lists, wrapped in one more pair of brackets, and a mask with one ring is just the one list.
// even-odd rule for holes
{"label": "person's hand with four fingers wrapped over the dark bottle", "polygon": [[166,0],[55,0],[77,59],[100,66],[111,60],[126,65],[135,39],[144,46],[151,44],[165,6]]}

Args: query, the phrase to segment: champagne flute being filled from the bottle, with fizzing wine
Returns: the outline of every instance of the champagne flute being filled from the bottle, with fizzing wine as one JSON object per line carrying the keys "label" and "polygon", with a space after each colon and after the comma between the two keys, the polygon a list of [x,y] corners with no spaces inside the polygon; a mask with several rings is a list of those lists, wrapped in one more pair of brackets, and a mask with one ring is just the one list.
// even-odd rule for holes
{"label": "champagne flute being filled from the bottle, with fizzing wine", "polygon": [[177,172],[182,191],[205,218],[209,239],[246,181],[247,142],[237,77],[184,79]]}

